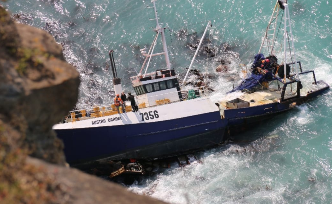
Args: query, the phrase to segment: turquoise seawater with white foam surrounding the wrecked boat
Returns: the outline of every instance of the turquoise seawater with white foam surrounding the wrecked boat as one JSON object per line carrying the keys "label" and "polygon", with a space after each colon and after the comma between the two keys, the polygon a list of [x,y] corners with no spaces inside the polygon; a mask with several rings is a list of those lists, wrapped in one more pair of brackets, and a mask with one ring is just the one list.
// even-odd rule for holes
{"label": "turquoise seawater with white foam surrounding the wrecked boat", "polygon": [[[123,88],[133,92],[129,77],[141,68],[139,49],[149,48],[154,37],[149,0],[8,0],[2,4],[19,17],[17,21],[46,30],[63,46],[66,60],[80,73],[78,107],[111,103],[111,49]],[[240,82],[239,65],[250,66],[274,5],[274,0],[158,0],[172,67],[184,76],[195,53],[189,44],[197,43],[211,20],[206,38],[215,57],[201,51],[194,69],[212,76],[211,98],[218,101],[233,83]],[[332,1],[289,0],[289,5],[297,59],[304,71],[313,69],[317,80],[332,84]],[[165,66],[158,60],[162,59],[152,60],[150,71]],[[229,62],[228,72],[216,73],[222,60]],[[202,164],[184,168],[173,164],[127,187],[176,204],[332,203],[331,116],[329,90],[245,132],[242,142],[198,153]]]}

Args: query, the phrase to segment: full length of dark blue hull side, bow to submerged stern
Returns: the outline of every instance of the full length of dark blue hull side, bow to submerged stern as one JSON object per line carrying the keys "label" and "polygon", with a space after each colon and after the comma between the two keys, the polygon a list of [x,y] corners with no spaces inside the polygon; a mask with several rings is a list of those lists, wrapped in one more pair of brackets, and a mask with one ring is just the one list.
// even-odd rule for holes
{"label": "full length of dark blue hull side, bow to submerged stern", "polygon": [[215,111],[160,122],[55,131],[64,142],[66,160],[71,165],[103,158],[161,159],[218,145],[228,136],[295,108],[295,103],[300,105],[328,88],[327,85],[282,103],[225,109],[224,119]]}

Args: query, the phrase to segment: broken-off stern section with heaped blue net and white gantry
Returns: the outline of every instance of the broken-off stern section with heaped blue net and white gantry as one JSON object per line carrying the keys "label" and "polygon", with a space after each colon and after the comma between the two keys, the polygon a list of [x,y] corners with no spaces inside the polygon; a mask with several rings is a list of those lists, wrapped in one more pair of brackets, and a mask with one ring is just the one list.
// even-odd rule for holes
{"label": "broken-off stern section with heaped blue net and white gantry", "polygon": [[236,134],[296,108],[327,89],[327,83],[317,81],[313,70],[303,71],[296,60],[289,5],[287,0],[277,0],[248,76],[229,93],[243,94],[220,101],[220,109],[224,110],[221,116],[228,120],[229,134]]}

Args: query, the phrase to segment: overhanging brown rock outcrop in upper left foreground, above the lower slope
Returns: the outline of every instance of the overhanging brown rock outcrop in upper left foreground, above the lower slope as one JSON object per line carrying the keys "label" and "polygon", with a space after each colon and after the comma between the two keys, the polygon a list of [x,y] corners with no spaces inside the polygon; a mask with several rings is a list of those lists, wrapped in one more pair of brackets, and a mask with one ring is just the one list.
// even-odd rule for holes
{"label": "overhanging brown rock outcrop in upper left foreground, above the lower slope", "polygon": [[4,10],[1,14],[0,113],[25,126],[32,156],[64,164],[63,145],[52,126],[75,105],[79,74],[47,32],[14,23]]}

